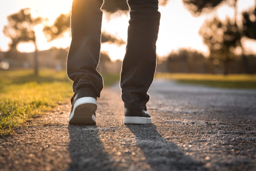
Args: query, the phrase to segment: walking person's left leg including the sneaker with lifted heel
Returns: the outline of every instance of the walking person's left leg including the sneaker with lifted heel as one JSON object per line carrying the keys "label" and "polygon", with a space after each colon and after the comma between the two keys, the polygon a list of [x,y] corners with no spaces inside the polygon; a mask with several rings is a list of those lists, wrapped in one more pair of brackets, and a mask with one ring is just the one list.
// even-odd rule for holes
{"label": "walking person's left leg including the sneaker with lifted heel", "polygon": [[70,124],[96,124],[97,97],[103,80],[96,70],[100,58],[103,0],[73,0],[72,41],[67,57],[67,75],[73,81]]}

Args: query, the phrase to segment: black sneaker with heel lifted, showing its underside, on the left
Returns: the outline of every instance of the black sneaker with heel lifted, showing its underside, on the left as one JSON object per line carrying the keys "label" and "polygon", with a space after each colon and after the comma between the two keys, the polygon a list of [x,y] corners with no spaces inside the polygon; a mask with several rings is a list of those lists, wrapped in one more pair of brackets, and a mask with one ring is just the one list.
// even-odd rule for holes
{"label": "black sneaker with heel lifted, showing its underside, on the left", "polygon": [[77,90],[71,98],[71,113],[68,123],[70,124],[96,124],[97,97],[90,88]]}

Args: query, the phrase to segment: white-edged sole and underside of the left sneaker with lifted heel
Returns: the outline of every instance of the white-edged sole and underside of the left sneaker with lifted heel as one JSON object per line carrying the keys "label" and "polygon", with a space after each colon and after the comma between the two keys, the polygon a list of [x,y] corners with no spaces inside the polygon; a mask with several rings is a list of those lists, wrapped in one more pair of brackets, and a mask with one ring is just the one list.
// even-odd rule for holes
{"label": "white-edged sole and underside of the left sneaker with lifted heel", "polygon": [[93,97],[82,97],[75,101],[74,107],[69,115],[68,123],[95,125],[97,102]]}

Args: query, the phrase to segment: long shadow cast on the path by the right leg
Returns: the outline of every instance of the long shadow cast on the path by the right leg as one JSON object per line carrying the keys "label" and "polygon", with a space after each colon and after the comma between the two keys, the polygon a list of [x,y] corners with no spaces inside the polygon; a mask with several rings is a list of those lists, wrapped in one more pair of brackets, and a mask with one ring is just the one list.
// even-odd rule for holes
{"label": "long shadow cast on the path by the right leg", "polygon": [[155,171],[207,170],[204,165],[185,155],[175,143],[165,140],[154,124],[127,125],[143,151],[146,162]]}

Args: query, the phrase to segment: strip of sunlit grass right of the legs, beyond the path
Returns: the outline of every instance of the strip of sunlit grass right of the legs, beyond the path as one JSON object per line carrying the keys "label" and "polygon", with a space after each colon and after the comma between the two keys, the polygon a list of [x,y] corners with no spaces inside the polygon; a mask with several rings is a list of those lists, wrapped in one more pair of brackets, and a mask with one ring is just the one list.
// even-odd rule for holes
{"label": "strip of sunlit grass right of the legs, beyond the path", "polygon": [[256,74],[157,73],[156,78],[172,79],[182,84],[205,85],[219,88],[256,89]]}

